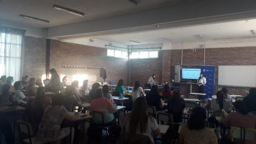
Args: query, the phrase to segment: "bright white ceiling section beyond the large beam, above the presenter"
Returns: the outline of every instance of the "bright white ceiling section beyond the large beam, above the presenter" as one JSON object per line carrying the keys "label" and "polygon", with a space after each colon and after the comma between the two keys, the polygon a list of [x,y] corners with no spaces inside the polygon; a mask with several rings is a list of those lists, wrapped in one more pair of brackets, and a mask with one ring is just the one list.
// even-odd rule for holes
{"label": "bright white ceiling section beyond the large beam, above the presenter", "polygon": [[[185,41],[207,41],[214,39],[256,37],[252,33],[256,30],[256,19],[226,22],[217,24],[206,24],[201,26],[180,27],[175,29],[162,29],[154,31],[141,31],[136,33],[100,35],[93,38],[104,41],[117,42],[125,45],[138,45],[129,42],[137,41],[141,44],[185,42]],[[198,35],[203,35],[200,38]],[[87,37],[88,38],[88,37]]]}

